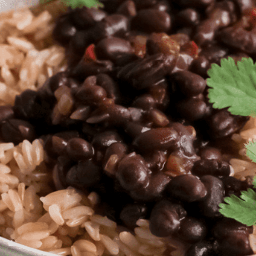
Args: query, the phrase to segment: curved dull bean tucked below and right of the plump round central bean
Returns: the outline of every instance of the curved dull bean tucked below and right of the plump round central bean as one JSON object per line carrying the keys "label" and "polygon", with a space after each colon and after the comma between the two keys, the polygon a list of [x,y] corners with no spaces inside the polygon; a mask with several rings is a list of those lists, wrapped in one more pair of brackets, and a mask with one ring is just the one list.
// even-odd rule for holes
{"label": "curved dull bean tucked below and right of the plump round central bean", "polygon": [[163,192],[170,181],[170,177],[164,173],[151,175],[148,186],[134,189],[130,192],[135,201],[153,202],[163,198]]}

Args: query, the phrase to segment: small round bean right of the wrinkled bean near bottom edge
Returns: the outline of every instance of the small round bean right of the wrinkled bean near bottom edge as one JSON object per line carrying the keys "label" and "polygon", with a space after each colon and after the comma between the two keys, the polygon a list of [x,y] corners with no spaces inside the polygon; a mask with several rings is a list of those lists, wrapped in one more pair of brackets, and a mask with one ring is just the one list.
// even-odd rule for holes
{"label": "small round bean right of the wrinkled bean near bottom edge", "polygon": [[180,239],[195,243],[204,239],[206,235],[207,226],[205,221],[187,216],[180,221],[180,229],[177,232]]}

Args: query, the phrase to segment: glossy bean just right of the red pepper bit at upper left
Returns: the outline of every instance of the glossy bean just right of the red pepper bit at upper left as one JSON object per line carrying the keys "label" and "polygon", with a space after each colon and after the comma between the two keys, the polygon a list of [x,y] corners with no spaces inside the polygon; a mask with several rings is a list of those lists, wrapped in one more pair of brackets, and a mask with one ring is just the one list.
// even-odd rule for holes
{"label": "glossy bean just right of the red pepper bit at upper left", "polygon": [[97,58],[113,62],[125,54],[131,54],[132,50],[129,41],[117,37],[104,38],[95,47]]}

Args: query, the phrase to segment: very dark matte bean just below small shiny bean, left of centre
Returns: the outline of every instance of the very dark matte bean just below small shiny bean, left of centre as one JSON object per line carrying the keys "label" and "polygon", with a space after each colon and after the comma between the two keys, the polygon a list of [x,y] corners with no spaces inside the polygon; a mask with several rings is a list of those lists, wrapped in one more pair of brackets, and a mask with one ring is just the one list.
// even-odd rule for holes
{"label": "very dark matte bean just below small shiny bean, left of centre", "polygon": [[66,182],[70,186],[79,189],[86,189],[99,182],[102,170],[92,161],[79,161],[78,164],[70,168],[66,175]]}

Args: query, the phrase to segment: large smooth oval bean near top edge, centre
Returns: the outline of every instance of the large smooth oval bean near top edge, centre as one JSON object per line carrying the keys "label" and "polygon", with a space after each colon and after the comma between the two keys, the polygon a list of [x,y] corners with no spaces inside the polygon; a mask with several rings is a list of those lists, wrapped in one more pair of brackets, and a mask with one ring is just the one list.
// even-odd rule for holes
{"label": "large smooth oval bean near top edge, centre", "polygon": [[171,16],[157,9],[143,9],[131,21],[132,29],[143,32],[168,32],[171,28]]}

